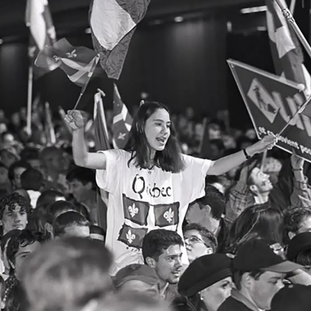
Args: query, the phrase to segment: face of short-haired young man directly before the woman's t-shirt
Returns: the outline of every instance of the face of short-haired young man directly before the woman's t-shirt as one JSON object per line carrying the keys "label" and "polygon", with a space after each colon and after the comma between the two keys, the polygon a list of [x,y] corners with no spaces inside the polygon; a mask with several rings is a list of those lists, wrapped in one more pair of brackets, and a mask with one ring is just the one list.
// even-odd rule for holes
{"label": "face of short-haired young man directly before the woman's t-shirt", "polygon": [[156,274],[159,279],[169,284],[177,284],[182,272],[182,251],[180,245],[171,245],[165,249],[156,261]]}

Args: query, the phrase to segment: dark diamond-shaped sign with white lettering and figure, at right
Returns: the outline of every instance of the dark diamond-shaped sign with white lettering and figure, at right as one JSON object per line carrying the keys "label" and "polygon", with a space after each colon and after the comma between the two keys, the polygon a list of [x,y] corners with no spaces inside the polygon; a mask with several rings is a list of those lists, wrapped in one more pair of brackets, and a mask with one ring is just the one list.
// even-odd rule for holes
{"label": "dark diamond-shaped sign with white lettering and figure, at right", "polygon": [[[229,59],[258,138],[277,134],[305,102],[301,87],[269,72]],[[309,105],[308,105],[309,106]],[[307,106],[307,108],[308,108]],[[303,114],[290,122],[276,146],[311,162],[311,119]]]}

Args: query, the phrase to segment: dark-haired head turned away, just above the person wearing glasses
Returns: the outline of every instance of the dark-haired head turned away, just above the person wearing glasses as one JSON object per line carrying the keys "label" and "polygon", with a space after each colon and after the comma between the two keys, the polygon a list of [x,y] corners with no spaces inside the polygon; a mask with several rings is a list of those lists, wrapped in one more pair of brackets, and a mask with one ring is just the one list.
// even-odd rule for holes
{"label": "dark-haired head turned away, just above the person wearing glasses", "polygon": [[225,213],[225,197],[215,187],[208,185],[205,196],[189,205],[186,213],[188,223],[196,223],[210,231],[214,230],[215,220],[220,220]]}

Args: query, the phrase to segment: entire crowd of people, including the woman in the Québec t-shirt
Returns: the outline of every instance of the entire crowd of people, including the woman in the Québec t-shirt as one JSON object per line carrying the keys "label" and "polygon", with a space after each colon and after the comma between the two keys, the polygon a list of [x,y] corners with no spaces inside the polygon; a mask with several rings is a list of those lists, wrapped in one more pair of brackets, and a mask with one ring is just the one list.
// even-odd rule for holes
{"label": "entire crowd of people, including the woman in the Qu\u00e9bec t-shirt", "polygon": [[31,135],[1,111],[1,309],[309,310],[308,163],[223,117],[202,159],[191,108],[145,102],[124,150],[97,153],[87,114],[51,143],[40,107]]}

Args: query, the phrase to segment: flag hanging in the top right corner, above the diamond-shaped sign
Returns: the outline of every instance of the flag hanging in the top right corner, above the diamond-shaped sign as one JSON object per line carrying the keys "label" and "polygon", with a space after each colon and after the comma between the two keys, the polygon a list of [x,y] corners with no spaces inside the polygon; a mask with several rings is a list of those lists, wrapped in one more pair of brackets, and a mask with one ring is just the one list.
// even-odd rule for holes
{"label": "flag hanging in the top right corner, above the diamond-shaped sign", "polygon": [[311,94],[311,78],[304,66],[304,57],[295,34],[281,8],[274,0],[266,0],[267,28],[276,74],[303,84],[305,95]]}

